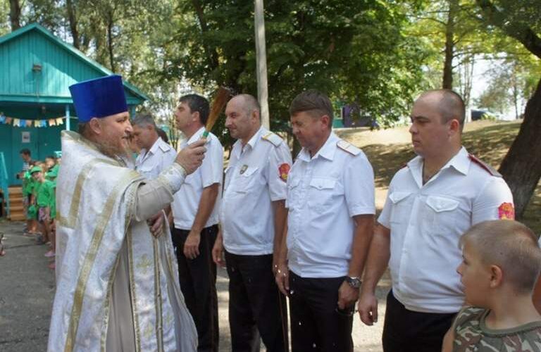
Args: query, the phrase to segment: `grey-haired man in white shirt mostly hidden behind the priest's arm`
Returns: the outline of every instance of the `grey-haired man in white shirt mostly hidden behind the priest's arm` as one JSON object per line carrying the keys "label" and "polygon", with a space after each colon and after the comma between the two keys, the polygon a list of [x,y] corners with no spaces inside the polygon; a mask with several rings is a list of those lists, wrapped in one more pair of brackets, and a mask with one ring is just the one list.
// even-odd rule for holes
{"label": "grey-haired man in white shirt mostly hidden behind the priest's arm", "polygon": [[159,137],[151,115],[135,116],[132,127],[135,143],[141,149],[135,160],[135,170],[147,179],[154,179],[175,161],[177,152]]}

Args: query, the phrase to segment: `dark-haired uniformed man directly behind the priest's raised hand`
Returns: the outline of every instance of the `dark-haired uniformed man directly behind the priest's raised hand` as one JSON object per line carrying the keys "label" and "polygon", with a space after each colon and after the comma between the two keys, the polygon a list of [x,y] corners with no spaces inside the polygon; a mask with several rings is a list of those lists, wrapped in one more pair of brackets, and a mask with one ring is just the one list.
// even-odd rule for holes
{"label": "dark-haired uniformed man directly behind the priest's raised hand", "polygon": [[[209,118],[209,101],[197,94],[180,97],[175,110],[177,127],[186,139],[180,149],[201,139]],[[218,295],[212,247],[218,235],[223,148],[212,133],[206,137],[206,158],[185,179],[173,201],[173,245],[178,259],[180,289],[192,313],[197,351],[218,351]]]}

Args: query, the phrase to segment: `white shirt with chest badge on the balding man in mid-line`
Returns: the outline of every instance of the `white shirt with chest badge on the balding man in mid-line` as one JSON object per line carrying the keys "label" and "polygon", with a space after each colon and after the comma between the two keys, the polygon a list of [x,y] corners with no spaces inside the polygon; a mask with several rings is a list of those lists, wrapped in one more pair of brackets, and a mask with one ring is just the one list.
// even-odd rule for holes
{"label": "white shirt with chest badge on the balding man in mid-line", "polygon": [[223,246],[234,254],[259,256],[273,253],[273,201],[287,195],[291,153],[278,135],[261,127],[242,148],[231,151],[225,169],[220,215]]}

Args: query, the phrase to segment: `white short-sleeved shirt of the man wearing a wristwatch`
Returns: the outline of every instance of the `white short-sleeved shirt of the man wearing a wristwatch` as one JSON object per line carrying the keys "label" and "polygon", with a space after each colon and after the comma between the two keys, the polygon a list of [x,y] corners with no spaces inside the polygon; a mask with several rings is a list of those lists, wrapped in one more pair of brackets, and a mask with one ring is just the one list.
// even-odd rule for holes
{"label": "white short-sleeved shirt of the man wearing a wristwatch", "polygon": [[347,275],[352,217],[375,213],[370,162],[334,133],[312,158],[302,149],[287,180],[287,208],[290,270],[301,277]]}

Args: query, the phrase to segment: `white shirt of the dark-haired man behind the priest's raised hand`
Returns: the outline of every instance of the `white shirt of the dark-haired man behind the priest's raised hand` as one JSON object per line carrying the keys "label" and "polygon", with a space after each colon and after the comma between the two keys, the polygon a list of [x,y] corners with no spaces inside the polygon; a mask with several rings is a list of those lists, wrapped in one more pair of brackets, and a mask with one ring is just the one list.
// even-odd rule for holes
{"label": "white shirt of the dark-haired man behind the priest's raised hand", "polygon": [[[180,148],[185,148],[188,144],[192,144],[201,139],[205,132],[205,127],[201,127],[194,135],[180,144]],[[222,184],[223,180],[223,147],[218,138],[209,133],[205,144],[206,153],[203,163],[192,174],[187,175],[180,187],[175,193],[175,201],[171,204],[173,208],[173,220],[175,228],[180,230],[191,230],[194,225],[195,215],[201,201],[203,189],[215,183]],[[210,227],[218,224],[218,214],[220,209],[220,190],[216,197],[216,203],[212,210],[209,219],[206,220],[204,227]]]}

